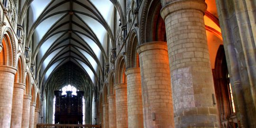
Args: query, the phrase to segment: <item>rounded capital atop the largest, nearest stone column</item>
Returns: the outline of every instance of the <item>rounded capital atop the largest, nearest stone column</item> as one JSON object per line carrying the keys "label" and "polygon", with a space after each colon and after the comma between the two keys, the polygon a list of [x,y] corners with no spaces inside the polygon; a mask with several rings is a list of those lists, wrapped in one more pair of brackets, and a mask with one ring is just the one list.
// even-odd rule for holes
{"label": "rounded capital atop the largest, nearest stone column", "polygon": [[196,9],[204,14],[207,9],[207,4],[204,0],[174,0],[161,9],[161,16],[165,20],[166,16],[169,14],[184,9]]}

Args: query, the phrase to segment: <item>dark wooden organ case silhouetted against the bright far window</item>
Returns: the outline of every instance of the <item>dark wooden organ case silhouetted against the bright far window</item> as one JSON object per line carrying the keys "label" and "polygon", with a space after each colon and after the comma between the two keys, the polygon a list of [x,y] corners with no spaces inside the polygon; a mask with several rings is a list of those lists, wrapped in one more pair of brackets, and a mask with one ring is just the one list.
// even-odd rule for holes
{"label": "dark wooden organ case silhouetted against the bright far window", "polygon": [[82,97],[83,91],[54,91],[55,94],[55,124],[82,124]]}

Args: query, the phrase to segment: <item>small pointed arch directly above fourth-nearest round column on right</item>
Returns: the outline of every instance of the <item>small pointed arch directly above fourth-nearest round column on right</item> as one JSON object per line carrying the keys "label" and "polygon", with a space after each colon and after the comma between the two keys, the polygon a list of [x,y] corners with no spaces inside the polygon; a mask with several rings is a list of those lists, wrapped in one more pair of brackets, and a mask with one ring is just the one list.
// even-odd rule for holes
{"label": "small pointed arch directly above fourth-nearest round column on right", "polygon": [[115,83],[126,83],[125,70],[126,61],[125,56],[119,55],[117,59],[117,64],[115,66]]}

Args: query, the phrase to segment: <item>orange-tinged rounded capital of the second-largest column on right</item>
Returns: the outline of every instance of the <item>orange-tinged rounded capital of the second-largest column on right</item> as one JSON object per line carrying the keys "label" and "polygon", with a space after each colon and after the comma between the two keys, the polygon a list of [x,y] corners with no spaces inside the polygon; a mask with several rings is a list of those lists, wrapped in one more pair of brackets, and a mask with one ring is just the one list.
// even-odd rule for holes
{"label": "orange-tinged rounded capital of the second-largest column on right", "polygon": [[163,49],[167,51],[167,43],[163,41],[152,41],[152,42],[146,42],[137,47],[138,54],[147,51],[147,50],[153,50],[153,49]]}

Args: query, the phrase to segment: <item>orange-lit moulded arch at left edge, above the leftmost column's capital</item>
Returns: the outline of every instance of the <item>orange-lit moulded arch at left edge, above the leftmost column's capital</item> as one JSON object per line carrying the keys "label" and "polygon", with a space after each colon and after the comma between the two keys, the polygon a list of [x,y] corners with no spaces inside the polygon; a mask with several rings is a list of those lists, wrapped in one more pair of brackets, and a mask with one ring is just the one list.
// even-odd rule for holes
{"label": "orange-lit moulded arch at left edge, above the leftmost column's capital", "polygon": [[0,60],[0,64],[16,67],[16,46],[10,28],[5,29],[1,42],[3,49],[0,53],[0,57],[4,59]]}

